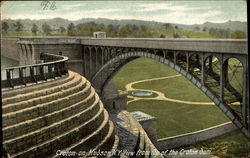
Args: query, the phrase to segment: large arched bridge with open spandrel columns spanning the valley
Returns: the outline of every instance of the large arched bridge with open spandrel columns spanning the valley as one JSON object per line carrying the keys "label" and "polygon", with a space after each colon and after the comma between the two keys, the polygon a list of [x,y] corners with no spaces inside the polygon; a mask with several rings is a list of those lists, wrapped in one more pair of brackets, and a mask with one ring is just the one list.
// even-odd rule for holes
{"label": "large arched bridge with open spandrel columns spanning the valley", "polygon": [[150,58],[183,75],[250,138],[247,40],[22,38],[19,52],[61,53],[69,69],[103,89],[127,63]]}

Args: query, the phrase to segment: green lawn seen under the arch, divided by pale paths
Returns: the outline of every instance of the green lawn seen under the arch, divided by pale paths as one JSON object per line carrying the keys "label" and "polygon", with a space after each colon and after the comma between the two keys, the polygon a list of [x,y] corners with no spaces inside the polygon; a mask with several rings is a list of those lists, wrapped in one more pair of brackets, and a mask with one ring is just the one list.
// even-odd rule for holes
{"label": "green lawn seen under the arch, divided by pale paths", "polygon": [[[125,90],[125,85],[133,81],[176,74],[174,70],[163,64],[141,58],[118,72],[114,81],[118,89]],[[135,84],[134,88],[161,91],[167,97],[175,99],[210,101],[184,77],[138,83]],[[141,100],[130,103],[128,111],[143,111],[156,117],[158,138],[193,132],[228,121],[214,105],[188,105],[167,101]]]}

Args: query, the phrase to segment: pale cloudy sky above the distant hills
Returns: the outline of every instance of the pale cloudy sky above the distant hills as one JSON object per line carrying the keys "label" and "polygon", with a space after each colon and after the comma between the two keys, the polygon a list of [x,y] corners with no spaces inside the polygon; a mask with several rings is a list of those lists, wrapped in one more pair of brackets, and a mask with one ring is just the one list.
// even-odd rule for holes
{"label": "pale cloudy sky above the distant hills", "polygon": [[[177,24],[247,21],[244,0],[7,1],[1,19],[137,19]],[[46,4],[46,5],[45,5]]]}

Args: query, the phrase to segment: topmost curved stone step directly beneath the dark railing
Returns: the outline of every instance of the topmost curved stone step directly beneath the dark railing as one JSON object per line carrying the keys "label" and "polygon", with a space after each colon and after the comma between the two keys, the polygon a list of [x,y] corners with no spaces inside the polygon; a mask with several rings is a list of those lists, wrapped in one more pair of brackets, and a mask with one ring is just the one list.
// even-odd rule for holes
{"label": "topmost curved stone step directly beneath the dark railing", "polygon": [[49,88],[49,87],[53,87],[56,85],[64,84],[70,80],[69,78],[70,74],[75,75],[75,73],[69,71],[68,74],[63,75],[62,77],[56,77],[55,79],[50,79],[47,81],[39,81],[38,83],[31,83],[31,84],[27,84],[21,87],[3,89],[2,97],[8,98],[8,97],[16,96],[19,94],[30,93],[30,92],[34,92],[34,91],[41,90],[44,88]]}

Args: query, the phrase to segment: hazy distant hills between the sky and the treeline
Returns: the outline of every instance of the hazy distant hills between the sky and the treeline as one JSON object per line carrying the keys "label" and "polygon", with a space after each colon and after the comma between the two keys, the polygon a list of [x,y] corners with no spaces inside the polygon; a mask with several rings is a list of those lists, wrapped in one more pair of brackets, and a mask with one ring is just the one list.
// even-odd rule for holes
{"label": "hazy distant hills between the sky and the treeline", "polygon": [[[30,31],[33,24],[36,24],[38,26],[38,29],[41,30],[42,24],[47,23],[49,24],[53,30],[58,29],[60,26],[67,28],[69,23],[74,23],[75,25],[82,24],[82,23],[88,23],[88,22],[95,22],[96,24],[104,24],[104,25],[119,25],[119,27],[122,27],[126,24],[131,25],[145,25],[148,27],[148,29],[153,30],[161,30],[164,29],[163,22],[156,22],[156,21],[143,21],[143,20],[112,20],[112,19],[105,19],[105,18],[83,18],[75,21],[71,21],[68,19],[63,18],[54,18],[54,19],[40,19],[40,20],[30,20],[30,19],[18,19],[18,20],[12,20],[12,19],[4,19],[2,22],[7,22],[9,24],[9,30],[14,31],[15,27],[14,24],[20,21],[24,25],[24,30]],[[171,26],[177,26],[179,29],[187,30],[187,31],[194,31],[197,27],[199,27],[200,31],[202,31],[203,28],[217,28],[217,29],[225,29],[225,30],[231,30],[231,31],[247,31],[247,22],[240,22],[240,21],[227,21],[224,23],[212,23],[212,22],[205,22],[203,24],[194,24],[194,25],[184,25],[184,24],[174,24],[169,23]],[[199,30],[196,30],[199,31]]]}

